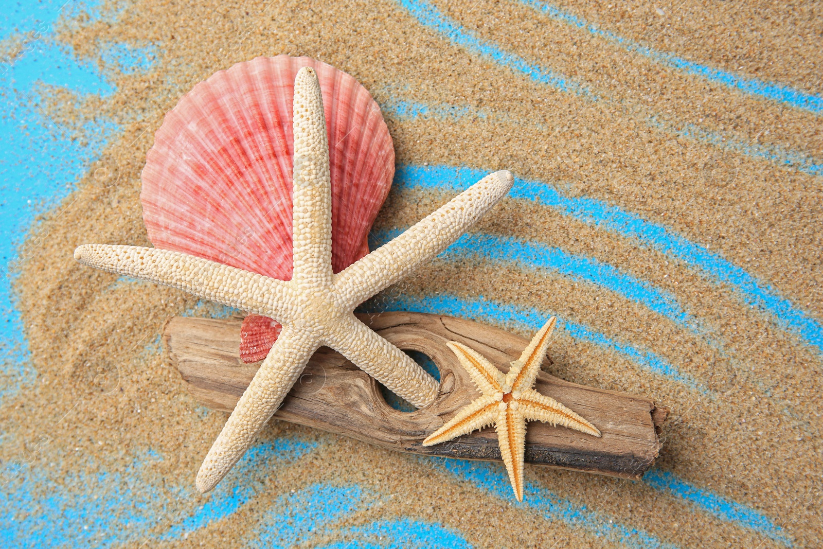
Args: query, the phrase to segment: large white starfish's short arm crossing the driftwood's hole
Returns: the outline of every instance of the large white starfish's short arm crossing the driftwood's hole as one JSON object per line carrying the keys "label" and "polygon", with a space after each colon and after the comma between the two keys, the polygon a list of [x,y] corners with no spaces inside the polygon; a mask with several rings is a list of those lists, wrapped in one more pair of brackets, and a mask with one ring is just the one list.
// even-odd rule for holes
{"label": "large white starfish's short arm crossing the driftwood's hole", "polygon": [[325,343],[416,407],[435,401],[439,388],[435,379],[353,314],[328,329]]}

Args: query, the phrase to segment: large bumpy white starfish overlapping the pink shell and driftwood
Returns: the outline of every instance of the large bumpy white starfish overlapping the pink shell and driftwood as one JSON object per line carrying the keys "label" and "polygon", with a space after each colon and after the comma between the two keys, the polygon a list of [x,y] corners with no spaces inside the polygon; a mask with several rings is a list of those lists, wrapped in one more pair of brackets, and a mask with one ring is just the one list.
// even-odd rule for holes
{"label": "large bumpy white starfish overlapping the pink shell and driftwood", "polygon": [[332,198],[323,96],[314,69],[295,78],[294,274],[281,281],[188,254],[85,244],[74,258],[91,267],[173,286],[281,323],[282,331],[202,463],[198,490],[210,491],[252,444],[321,345],[424,407],[438,384],[405,353],[353,314],[356,305],[446,249],[511,188],[508,171],[489,174],[398,238],[332,273]]}

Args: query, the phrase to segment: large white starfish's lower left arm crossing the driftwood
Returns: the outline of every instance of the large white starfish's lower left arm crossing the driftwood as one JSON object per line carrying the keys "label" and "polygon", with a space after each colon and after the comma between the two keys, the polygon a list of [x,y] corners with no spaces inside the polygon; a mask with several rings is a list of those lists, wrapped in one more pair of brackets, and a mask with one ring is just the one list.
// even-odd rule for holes
{"label": "large white starfish's lower left arm crossing the driftwood", "polygon": [[283,327],[203,460],[197,478],[199,491],[212,490],[243,456],[254,437],[280,407],[319,344],[314,337],[306,337],[305,332]]}

